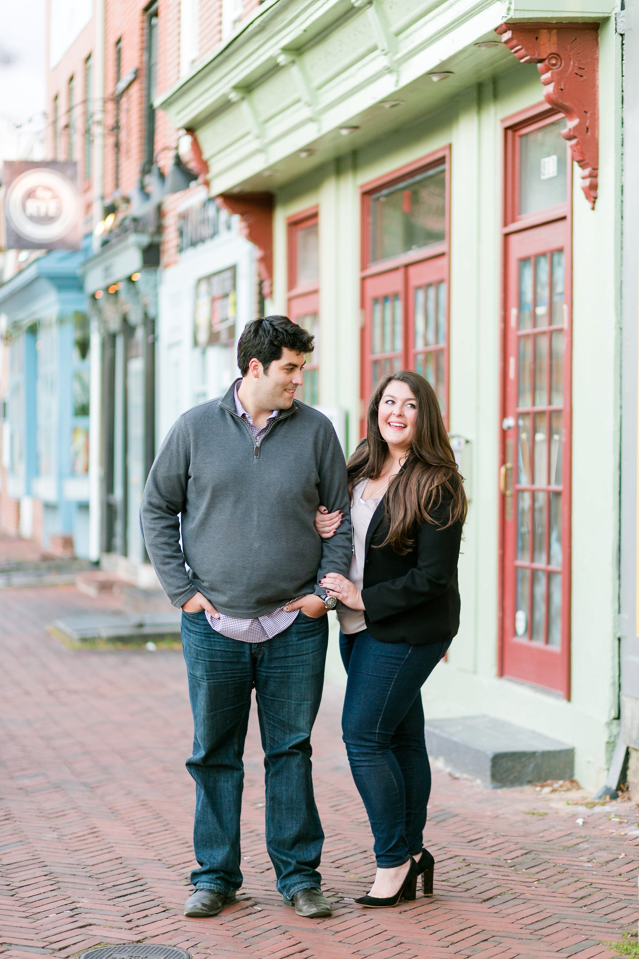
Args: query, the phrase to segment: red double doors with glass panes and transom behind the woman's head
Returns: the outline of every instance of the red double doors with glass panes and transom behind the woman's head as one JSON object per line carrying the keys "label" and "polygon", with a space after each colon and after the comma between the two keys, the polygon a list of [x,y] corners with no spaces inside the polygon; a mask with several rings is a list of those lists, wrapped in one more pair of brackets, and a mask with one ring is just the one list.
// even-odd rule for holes
{"label": "red double doors with glass panes and transom behind the woman's head", "polygon": [[362,398],[417,370],[448,409],[447,151],[363,189]]}

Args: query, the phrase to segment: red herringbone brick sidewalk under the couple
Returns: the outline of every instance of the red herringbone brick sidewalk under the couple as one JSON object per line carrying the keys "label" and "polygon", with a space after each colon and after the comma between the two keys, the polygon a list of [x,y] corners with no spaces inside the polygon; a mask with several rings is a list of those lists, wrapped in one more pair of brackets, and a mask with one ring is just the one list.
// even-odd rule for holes
{"label": "red herringbone brick sidewalk under the couple", "polygon": [[566,805],[582,793],[490,791],[437,770],[425,833],[435,897],[354,905],[374,873],[372,838],[332,688],[313,762],[333,917],[303,920],[275,891],[253,716],[240,901],[214,919],[185,919],[194,788],[184,665],[178,652],[78,651],[45,632],[96,604],[73,587],[0,593],[0,953],[63,957],[148,940],[195,959],[591,959],[612,956],[602,941],[636,924],[636,807],[588,810]]}

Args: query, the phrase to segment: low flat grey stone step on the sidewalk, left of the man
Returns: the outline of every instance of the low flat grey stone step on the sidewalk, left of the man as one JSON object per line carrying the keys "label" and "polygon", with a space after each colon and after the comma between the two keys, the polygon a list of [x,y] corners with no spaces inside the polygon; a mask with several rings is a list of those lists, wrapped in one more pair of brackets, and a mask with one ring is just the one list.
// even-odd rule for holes
{"label": "low flat grey stone step on the sidewalk, left of the man", "polygon": [[97,640],[111,643],[176,642],[180,638],[180,620],[180,610],[137,616],[119,610],[92,610],[60,617],[54,621],[52,629],[79,644]]}

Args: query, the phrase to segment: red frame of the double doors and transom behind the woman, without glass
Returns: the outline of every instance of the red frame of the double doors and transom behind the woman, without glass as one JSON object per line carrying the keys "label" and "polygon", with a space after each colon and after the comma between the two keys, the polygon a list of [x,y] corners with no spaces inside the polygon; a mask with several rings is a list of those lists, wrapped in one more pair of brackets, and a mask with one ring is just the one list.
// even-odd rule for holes
{"label": "red frame of the double doors and transom behind the woman, without glass", "polygon": [[[445,240],[443,243],[425,246],[411,250],[400,256],[386,260],[371,262],[371,217],[372,198],[380,189],[400,184],[409,177],[427,173],[435,167],[445,166]],[[396,359],[399,369],[425,368],[425,354],[433,354],[432,362],[437,365],[435,354],[441,353],[443,361],[439,367],[443,376],[442,396],[444,399],[445,422],[448,421],[449,409],[449,344],[450,344],[450,146],[422,156],[419,160],[394,170],[391,174],[377,177],[360,187],[361,198],[361,267],[360,267],[360,305],[361,305],[361,338],[360,338],[360,386],[361,386],[361,433],[365,431],[365,413],[368,398],[375,384],[373,383],[374,363],[384,359]],[[429,285],[445,284],[445,342],[428,347],[416,346],[415,343],[415,295],[418,288],[424,289]],[[437,293],[436,293],[437,295]],[[439,293],[441,295],[441,293]],[[384,297],[394,306],[400,308],[401,343],[399,350],[391,350],[390,354],[373,353],[373,310],[375,300]],[[389,299],[390,298],[390,299]],[[378,308],[378,306],[377,306]],[[421,358],[424,357],[423,360]],[[375,359],[374,359],[375,358]],[[379,367],[377,367],[379,368]],[[378,377],[377,377],[378,379]],[[376,382],[377,382],[376,379]]]}

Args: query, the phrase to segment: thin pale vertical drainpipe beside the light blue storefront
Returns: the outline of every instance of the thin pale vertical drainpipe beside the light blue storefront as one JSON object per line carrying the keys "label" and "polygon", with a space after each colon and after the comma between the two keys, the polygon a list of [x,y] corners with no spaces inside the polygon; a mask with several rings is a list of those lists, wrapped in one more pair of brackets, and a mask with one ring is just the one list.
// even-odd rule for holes
{"label": "thin pale vertical drainpipe beside the light blue storefront", "polygon": [[[104,201],[104,0],[94,0],[96,18],[95,103],[98,122],[93,128],[93,226],[103,220]],[[95,114],[94,114],[95,115]],[[94,234],[94,252],[99,246]],[[91,378],[89,399],[89,558],[100,560],[102,551],[102,393],[103,338],[98,318],[91,316]]]}

